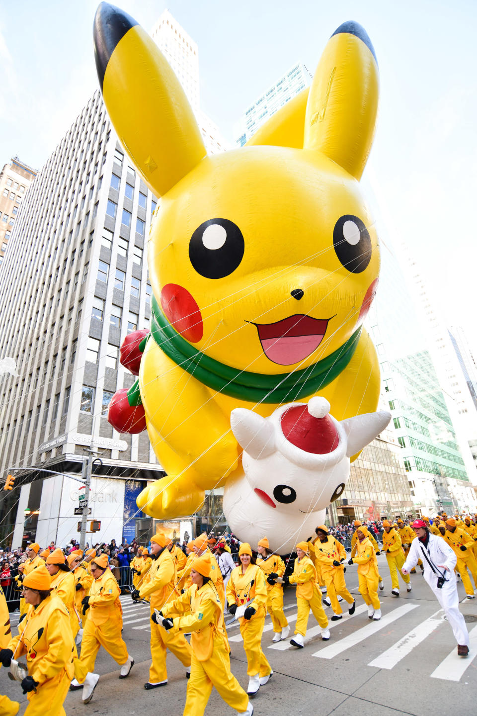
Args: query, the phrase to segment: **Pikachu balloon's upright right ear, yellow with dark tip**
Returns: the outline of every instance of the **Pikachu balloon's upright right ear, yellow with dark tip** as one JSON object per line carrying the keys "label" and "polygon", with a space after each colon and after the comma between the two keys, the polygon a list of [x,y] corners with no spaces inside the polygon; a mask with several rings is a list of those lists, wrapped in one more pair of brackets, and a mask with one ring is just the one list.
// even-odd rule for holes
{"label": "Pikachu balloon's upright right ear, yellow with dark tip", "polygon": [[360,179],[373,144],[379,74],[373,45],[357,22],[330,37],[308,96],[303,147],[323,152]]}

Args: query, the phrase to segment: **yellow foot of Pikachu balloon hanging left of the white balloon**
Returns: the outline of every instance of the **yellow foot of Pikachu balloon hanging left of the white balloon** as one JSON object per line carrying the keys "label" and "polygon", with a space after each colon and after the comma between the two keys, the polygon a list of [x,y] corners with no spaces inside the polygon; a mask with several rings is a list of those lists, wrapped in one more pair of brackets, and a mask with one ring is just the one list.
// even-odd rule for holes
{"label": "yellow foot of Pikachu balloon hanging left of the white balloon", "polygon": [[177,515],[192,515],[204,498],[204,490],[195,487],[188,480],[167,475],[139,493],[137,506],[151,517],[169,520]]}

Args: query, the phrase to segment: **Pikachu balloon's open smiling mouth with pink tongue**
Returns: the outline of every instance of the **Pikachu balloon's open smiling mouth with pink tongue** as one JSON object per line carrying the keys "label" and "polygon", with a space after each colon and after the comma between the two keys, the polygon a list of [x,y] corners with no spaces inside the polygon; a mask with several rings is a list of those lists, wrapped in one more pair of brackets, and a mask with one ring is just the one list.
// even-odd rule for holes
{"label": "Pikachu balloon's open smiling mouth with pink tongue", "polygon": [[318,348],[329,320],[295,314],[275,323],[254,325],[267,358],[278,365],[293,365],[308,358]]}

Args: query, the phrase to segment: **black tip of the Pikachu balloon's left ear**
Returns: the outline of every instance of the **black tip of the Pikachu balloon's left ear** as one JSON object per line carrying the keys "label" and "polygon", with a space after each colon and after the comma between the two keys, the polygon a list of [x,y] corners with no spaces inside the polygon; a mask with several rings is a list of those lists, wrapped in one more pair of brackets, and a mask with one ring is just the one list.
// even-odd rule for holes
{"label": "black tip of the Pikachu balloon's left ear", "polygon": [[119,40],[137,24],[134,18],[119,7],[107,2],[99,4],[93,22],[93,41],[94,59],[101,89],[103,89],[104,72],[115,47]]}

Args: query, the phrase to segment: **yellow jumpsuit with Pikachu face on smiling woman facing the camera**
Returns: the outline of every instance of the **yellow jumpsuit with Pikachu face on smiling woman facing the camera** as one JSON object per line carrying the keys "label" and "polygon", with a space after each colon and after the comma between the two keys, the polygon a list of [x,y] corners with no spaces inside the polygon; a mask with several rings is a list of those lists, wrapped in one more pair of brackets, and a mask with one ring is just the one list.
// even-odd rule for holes
{"label": "yellow jumpsuit with Pikachu face on smiling woman facing the camera", "polygon": [[265,574],[257,564],[250,563],[242,574],[242,564],[232,569],[227,582],[227,601],[229,604],[250,604],[255,609],[251,619],[241,616],[240,634],[247,657],[247,674],[249,676],[267,676],[272,667],[262,652],[262,632],[267,614],[267,587]]}

